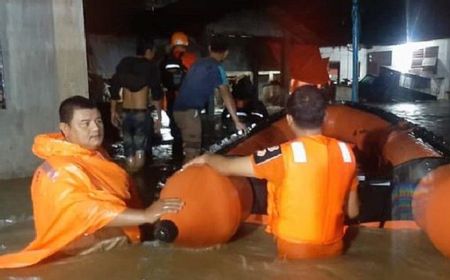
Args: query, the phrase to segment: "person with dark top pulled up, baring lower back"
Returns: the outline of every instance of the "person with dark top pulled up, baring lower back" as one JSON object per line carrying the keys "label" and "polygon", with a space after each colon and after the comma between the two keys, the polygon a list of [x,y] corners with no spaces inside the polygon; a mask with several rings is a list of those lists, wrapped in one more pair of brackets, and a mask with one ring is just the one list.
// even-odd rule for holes
{"label": "person with dark top pulled up, baring lower back", "polygon": [[[138,41],[136,56],[125,57],[116,67],[111,85],[111,123],[121,127],[127,169],[138,171],[145,164],[147,141],[150,141],[153,119],[150,105],[157,109],[154,129],[161,128],[160,100],[162,89],[158,66],[152,62],[155,55],[153,41]],[[122,98],[120,90],[122,89]],[[122,99],[122,112],[117,103]]]}

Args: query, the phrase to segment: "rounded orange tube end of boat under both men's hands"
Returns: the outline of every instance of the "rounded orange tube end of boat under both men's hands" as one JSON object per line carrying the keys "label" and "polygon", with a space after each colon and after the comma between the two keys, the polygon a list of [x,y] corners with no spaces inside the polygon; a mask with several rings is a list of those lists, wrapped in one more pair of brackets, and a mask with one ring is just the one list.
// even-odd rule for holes
{"label": "rounded orange tube end of boat under both men's hands", "polygon": [[[162,221],[173,223],[178,231],[174,243],[186,247],[227,242],[247,218],[253,203],[246,179],[220,175],[208,166],[178,171],[169,178],[160,197],[179,197],[185,202],[182,211],[164,215]],[[159,230],[163,235],[172,230],[162,227]]]}

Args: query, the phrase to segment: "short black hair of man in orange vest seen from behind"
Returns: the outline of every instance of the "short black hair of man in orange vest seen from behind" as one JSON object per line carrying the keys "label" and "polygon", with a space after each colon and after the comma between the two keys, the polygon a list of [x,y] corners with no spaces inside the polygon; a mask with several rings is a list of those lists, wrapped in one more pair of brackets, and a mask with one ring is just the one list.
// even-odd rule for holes
{"label": "short black hair of man in orange vest seen from behind", "polygon": [[300,128],[319,128],[325,117],[327,103],[323,92],[316,86],[301,86],[289,96],[286,113]]}

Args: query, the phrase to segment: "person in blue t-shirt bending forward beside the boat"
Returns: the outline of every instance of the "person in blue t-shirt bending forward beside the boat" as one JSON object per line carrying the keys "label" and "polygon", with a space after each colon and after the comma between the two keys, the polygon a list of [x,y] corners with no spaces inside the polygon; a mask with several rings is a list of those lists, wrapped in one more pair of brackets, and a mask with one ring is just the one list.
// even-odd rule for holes
{"label": "person in blue t-shirt bending forward beside the boat", "polygon": [[174,118],[183,139],[185,161],[200,154],[202,128],[199,111],[205,107],[216,88],[236,129],[245,129],[236,115],[236,105],[220,64],[228,55],[228,46],[222,38],[213,38],[209,52],[209,57],[197,60],[187,72],[173,107]]}

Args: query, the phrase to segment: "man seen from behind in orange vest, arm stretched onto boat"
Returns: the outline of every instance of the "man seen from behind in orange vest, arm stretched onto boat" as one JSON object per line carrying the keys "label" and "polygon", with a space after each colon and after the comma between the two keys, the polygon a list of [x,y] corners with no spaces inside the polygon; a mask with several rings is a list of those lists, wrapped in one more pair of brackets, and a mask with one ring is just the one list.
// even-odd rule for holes
{"label": "man seen from behind in orange vest, arm stretched onto boat", "polygon": [[267,231],[283,259],[342,254],[344,216],[358,215],[355,157],[349,145],[322,135],[326,102],[314,86],[297,88],[287,102],[295,140],[243,157],[202,155],[225,175],[267,180]]}

